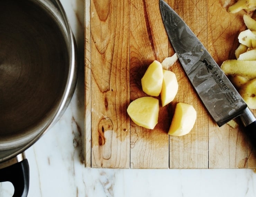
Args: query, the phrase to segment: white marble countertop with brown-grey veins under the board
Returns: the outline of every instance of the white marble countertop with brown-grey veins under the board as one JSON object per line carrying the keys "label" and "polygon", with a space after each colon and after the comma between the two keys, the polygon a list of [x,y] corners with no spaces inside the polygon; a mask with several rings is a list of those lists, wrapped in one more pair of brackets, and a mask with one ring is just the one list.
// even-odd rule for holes
{"label": "white marble countertop with brown-grey veins under the board", "polygon": [[[84,1],[61,0],[74,32],[81,65],[75,94],[60,121],[25,153],[30,165],[29,197],[253,197],[252,169],[91,169],[83,164]],[[0,196],[13,194],[0,184]]]}

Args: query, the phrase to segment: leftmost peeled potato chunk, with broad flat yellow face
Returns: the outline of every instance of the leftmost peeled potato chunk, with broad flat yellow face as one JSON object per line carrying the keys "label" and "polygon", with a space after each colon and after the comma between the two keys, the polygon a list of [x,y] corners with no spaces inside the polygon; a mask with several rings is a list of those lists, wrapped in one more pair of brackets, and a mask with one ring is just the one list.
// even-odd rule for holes
{"label": "leftmost peeled potato chunk, with broad flat yellow face", "polygon": [[135,124],[153,129],[158,121],[158,99],[150,96],[137,98],[129,104],[127,113]]}

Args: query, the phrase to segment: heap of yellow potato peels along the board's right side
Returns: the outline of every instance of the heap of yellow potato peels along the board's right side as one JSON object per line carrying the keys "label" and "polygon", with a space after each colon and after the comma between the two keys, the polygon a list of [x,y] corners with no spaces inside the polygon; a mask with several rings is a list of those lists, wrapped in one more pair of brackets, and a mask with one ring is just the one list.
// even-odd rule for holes
{"label": "heap of yellow potato peels along the board's right side", "polygon": [[[243,16],[247,30],[238,35],[240,45],[235,51],[237,60],[226,60],[222,63],[221,69],[229,75],[231,83],[239,90],[248,107],[256,108],[256,1],[238,0],[228,8],[228,12],[237,13],[241,10],[248,15]],[[227,123],[232,128],[237,128],[238,123],[234,120]]]}

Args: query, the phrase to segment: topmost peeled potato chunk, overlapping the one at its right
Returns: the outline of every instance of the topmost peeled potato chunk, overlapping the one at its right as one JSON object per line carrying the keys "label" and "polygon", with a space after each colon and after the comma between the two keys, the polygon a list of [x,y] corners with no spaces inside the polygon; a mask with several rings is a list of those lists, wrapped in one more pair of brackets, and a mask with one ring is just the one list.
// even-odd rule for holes
{"label": "topmost peeled potato chunk, overlapping the one at its right", "polygon": [[159,96],[162,90],[163,68],[158,61],[152,62],[141,79],[142,90],[150,96]]}

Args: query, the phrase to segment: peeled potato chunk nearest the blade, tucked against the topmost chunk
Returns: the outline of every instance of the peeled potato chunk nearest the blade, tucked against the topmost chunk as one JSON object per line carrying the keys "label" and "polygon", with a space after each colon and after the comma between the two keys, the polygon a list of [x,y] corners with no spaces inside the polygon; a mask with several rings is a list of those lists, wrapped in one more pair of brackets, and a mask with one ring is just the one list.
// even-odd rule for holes
{"label": "peeled potato chunk nearest the blade, tucked against the topmost chunk", "polygon": [[162,106],[165,106],[174,100],[179,85],[176,75],[172,71],[163,70],[163,75],[163,85],[160,95]]}

